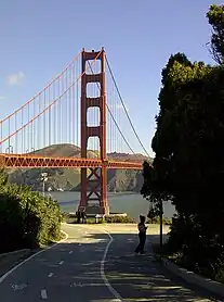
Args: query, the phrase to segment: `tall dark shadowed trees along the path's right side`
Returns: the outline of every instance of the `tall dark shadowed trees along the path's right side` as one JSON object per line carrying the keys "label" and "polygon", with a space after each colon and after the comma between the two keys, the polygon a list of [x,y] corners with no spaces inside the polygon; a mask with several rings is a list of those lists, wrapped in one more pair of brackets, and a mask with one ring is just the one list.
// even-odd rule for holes
{"label": "tall dark shadowed trees along the path's right side", "polygon": [[[222,63],[224,7],[212,5],[208,17]],[[156,158],[151,167],[144,164],[142,193],[156,203],[172,200],[177,216],[170,250],[188,268],[218,278],[224,267],[224,67],[176,53],[161,84],[151,141]]]}

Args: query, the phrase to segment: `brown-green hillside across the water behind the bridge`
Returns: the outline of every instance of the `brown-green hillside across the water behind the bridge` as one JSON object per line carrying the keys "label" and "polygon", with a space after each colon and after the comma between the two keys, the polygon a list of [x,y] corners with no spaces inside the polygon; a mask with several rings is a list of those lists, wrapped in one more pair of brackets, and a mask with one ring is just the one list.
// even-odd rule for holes
{"label": "brown-green hillside across the water behind the bridge", "polygon": [[[35,152],[44,156],[74,156],[80,158],[80,148],[74,144],[53,144]],[[146,156],[142,154],[108,153],[107,156],[120,161],[144,161]],[[88,151],[88,158],[97,158],[97,152]],[[9,180],[18,185],[31,186],[32,190],[42,190],[40,175],[48,172],[49,177],[45,189],[52,190],[79,190],[80,169],[79,168],[32,168],[32,169],[11,169]],[[142,172],[131,169],[108,169],[107,186],[108,191],[140,191],[142,187]]]}

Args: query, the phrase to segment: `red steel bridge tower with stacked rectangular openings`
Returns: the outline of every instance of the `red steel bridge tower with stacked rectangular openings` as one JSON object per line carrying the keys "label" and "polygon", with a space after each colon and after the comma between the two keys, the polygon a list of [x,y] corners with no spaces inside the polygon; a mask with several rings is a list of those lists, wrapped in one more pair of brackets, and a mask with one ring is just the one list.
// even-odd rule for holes
{"label": "red steel bridge tower with stacked rectangular openings", "polygon": [[[101,73],[85,73],[89,60],[101,61]],[[89,65],[90,68],[90,65]],[[89,214],[108,214],[107,203],[107,167],[106,167],[106,89],[105,89],[105,51],[85,52],[82,50],[81,77],[81,156],[87,159],[88,139],[98,137],[102,167],[81,168],[81,200],[80,211]],[[95,83],[100,89],[100,97],[88,98],[87,85]],[[87,112],[89,108],[100,109],[100,126],[88,126]],[[88,173],[90,171],[90,173]]]}

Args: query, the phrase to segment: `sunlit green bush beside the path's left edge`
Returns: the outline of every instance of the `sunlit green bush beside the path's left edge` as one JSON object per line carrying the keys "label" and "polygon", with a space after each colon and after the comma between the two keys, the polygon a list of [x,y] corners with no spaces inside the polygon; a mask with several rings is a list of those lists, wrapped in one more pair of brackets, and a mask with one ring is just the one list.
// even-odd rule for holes
{"label": "sunlit green bush beside the path's left edge", "polygon": [[48,244],[61,237],[58,204],[29,187],[11,185],[0,173],[0,252]]}

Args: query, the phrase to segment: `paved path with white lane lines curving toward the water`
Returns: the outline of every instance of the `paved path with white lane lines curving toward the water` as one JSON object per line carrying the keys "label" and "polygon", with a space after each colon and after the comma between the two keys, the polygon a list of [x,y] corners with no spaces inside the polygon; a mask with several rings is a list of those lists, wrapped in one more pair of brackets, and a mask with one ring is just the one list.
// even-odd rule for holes
{"label": "paved path with white lane lines curving toward the water", "polygon": [[135,256],[136,226],[63,225],[63,230],[66,241],[0,278],[1,302],[211,301],[171,280],[149,242],[147,254]]}

